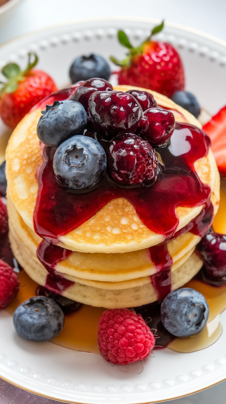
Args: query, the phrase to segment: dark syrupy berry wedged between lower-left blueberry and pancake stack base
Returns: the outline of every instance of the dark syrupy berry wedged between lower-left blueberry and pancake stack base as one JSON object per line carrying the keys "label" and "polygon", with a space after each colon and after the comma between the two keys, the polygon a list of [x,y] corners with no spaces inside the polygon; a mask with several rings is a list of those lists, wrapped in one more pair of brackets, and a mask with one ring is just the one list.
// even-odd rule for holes
{"label": "dark syrupy berry wedged between lower-left blueberry and pancake stack base", "polygon": [[82,303],[68,299],[67,297],[64,297],[62,295],[57,295],[54,292],[50,292],[43,286],[39,286],[39,288],[36,290],[36,293],[37,296],[46,296],[54,299],[65,314],[75,313],[75,311],[77,311],[82,306]]}

